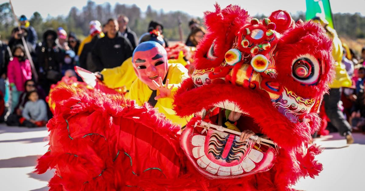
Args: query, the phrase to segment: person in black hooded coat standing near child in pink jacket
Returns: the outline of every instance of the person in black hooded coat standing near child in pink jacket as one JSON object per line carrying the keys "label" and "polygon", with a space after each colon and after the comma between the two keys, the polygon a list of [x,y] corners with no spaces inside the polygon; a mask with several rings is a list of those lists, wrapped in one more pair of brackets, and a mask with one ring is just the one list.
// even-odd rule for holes
{"label": "person in black hooded coat standing near child in pink jacket", "polygon": [[51,84],[61,80],[61,64],[64,53],[57,47],[57,33],[47,30],[43,34],[42,46],[38,50],[39,84],[48,94]]}

